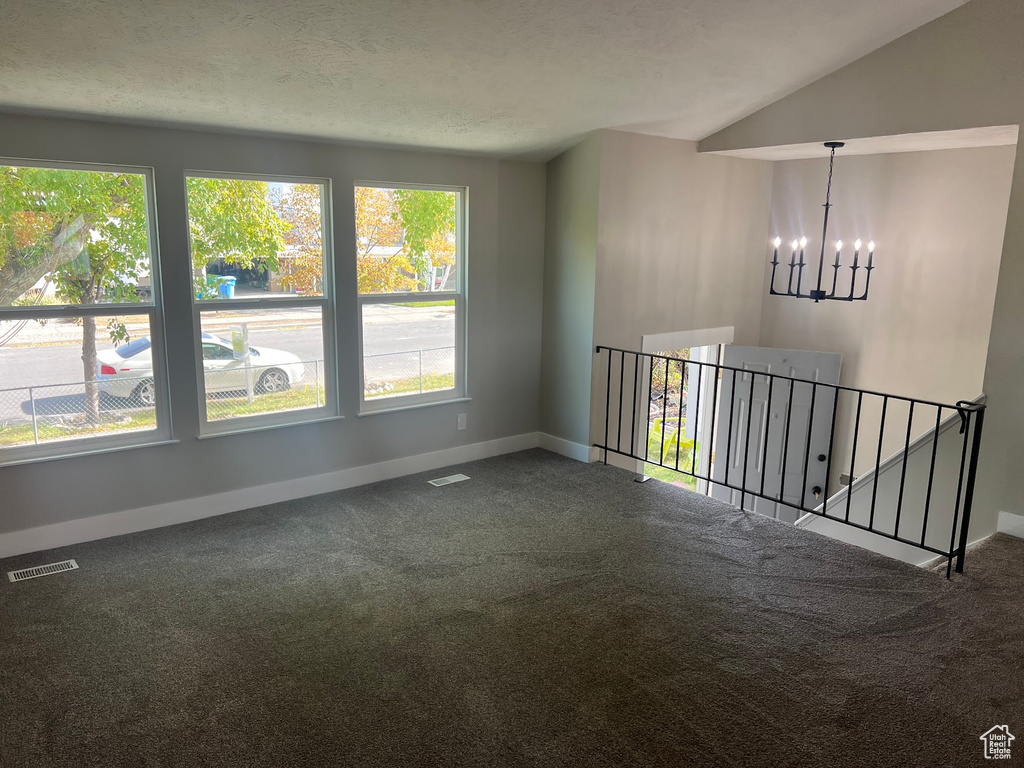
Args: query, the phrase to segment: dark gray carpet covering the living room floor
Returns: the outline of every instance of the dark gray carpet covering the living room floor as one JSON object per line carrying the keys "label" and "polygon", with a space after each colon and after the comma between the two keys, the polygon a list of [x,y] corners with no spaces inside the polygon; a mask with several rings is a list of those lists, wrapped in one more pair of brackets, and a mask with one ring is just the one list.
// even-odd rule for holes
{"label": "dark gray carpet covering the living room floor", "polygon": [[0,765],[1024,753],[1024,541],[946,582],[542,451],[459,471],[3,561],[81,570],[0,585]]}

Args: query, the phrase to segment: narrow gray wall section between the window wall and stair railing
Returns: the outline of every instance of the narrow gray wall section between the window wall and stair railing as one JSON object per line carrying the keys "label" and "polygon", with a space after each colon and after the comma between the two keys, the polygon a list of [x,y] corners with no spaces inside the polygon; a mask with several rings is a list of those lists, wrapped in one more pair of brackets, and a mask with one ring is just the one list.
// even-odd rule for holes
{"label": "narrow gray wall section between the window wall and stair railing", "polygon": [[601,135],[548,163],[541,424],[590,444]]}

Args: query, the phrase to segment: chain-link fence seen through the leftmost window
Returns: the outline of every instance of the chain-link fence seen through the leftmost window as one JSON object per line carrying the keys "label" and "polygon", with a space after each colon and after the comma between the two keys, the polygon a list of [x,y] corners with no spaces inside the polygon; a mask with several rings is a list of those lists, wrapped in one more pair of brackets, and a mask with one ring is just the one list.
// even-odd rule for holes
{"label": "chain-link fence seen through the leftmost window", "polygon": [[118,386],[128,396],[112,395],[102,381],[0,389],[0,447],[156,428],[152,379]]}

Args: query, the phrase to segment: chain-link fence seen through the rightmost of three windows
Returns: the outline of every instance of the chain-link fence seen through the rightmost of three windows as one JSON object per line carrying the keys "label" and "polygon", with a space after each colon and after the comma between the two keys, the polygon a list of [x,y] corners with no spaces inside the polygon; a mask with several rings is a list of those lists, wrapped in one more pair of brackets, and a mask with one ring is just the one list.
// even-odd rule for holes
{"label": "chain-link fence seen through the rightmost of three windows", "polygon": [[367,399],[455,388],[455,347],[369,354],[362,358]]}

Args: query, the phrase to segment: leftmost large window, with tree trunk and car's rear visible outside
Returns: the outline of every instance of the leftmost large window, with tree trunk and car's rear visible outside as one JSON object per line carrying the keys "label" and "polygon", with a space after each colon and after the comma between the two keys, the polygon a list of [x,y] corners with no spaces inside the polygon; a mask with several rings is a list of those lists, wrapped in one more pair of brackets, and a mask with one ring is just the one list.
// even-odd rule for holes
{"label": "leftmost large window, with tree trunk and car's rear visible outside", "polygon": [[152,188],[0,161],[0,463],[169,435]]}

